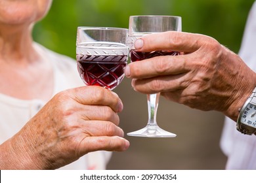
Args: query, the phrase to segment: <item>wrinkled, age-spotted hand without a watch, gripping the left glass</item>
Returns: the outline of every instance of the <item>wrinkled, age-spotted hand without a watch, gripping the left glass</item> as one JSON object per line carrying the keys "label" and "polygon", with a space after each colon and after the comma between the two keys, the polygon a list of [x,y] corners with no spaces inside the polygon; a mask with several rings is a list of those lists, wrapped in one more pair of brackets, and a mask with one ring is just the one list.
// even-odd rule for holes
{"label": "wrinkled, age-spotted hand without a watch, gripping the left glass", "polygon": [[116,93],[104,88],[58,93],[9,140],[12,152],[24,159],[17,168],[56,169],[88,152],[126,150],[129,142],[117,127],[122,109]]}

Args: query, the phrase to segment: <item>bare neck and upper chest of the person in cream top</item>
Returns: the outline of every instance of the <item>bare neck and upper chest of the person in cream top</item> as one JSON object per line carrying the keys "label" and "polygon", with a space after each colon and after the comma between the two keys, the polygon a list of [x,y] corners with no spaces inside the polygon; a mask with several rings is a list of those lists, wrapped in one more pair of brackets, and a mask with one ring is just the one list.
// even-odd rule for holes
{"label": "bare neck and upper chest of the person in cream top", "polygon": [[17,27],[5,31],[0,24],[0,93],[48,101],[53,94],[53,67],[33,48],[31,29]]}

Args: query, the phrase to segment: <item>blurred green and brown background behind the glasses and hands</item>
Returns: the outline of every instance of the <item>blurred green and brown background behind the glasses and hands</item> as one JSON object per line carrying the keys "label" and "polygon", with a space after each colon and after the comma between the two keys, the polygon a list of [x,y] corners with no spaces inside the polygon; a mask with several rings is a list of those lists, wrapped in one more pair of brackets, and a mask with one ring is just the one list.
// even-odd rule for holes
{"label": "blurred green and brown background behind the glasses and hands", "polygon": [[[202,33],[238,52],[249,8],[254,0],[53,0],[49,14],[35,25],[35,41],[75,58],[77,26],[128,27],[131,15],[182,17],[182,31]],[[77,74],[78,76],[78,74]],[[146,96],[134,92],[127,78],[114,90],[124,109],[125,133],[147,122]],[[108,169],[224,169],[219,148],[223,114],[202,112],[160,99],[158,124],[174,139],[127,137],[126,152],[114,152]]]}

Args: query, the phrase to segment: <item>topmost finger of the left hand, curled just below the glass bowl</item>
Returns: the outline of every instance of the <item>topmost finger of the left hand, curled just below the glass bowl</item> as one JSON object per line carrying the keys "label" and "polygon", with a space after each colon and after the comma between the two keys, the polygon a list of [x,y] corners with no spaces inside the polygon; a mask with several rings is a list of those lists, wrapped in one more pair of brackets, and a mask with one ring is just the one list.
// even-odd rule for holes
{"label": "topmost finger of the left hand, curled just below the glass bowl", "polygon": [[84,86],[67,90],[70,97],[83,105],[106,105],[115,112],[123,110],[118,95],[100,86]]}

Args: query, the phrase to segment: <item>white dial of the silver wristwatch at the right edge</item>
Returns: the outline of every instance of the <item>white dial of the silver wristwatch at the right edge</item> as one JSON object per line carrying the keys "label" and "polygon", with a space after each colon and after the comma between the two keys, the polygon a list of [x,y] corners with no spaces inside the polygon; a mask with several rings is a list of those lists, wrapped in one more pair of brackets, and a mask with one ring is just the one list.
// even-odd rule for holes
{"label": "white dial of the silver wristwatch at the right edge", "polygon": [[242,114],[241,123],[256,127],[256,106],[249,103]]}

